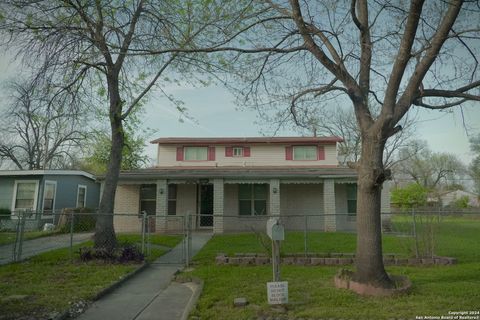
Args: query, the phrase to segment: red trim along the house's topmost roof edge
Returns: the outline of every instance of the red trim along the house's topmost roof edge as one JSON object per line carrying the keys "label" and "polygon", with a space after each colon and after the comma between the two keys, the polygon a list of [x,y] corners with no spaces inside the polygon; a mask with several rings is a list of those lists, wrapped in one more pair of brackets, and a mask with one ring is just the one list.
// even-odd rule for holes
{"label": "red trim along the house's topmost roof edge", "polygon": [[153,144],[189,144],[189,145],[230,145],[230,144],[297,144],[297,143],[322,143],[335,144],[343,142],[340,137],[247,137],[247,138],[180,138],[166,137],[151,141]]}

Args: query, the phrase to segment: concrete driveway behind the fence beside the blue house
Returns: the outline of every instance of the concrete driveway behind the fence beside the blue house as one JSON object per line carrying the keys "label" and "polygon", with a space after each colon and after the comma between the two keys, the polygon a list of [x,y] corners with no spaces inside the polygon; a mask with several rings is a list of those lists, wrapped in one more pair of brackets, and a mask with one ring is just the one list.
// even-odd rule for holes
{"label": "concrete driveway behind the fence beside the blue house", "polygon": [[[73,235],[73,244],[82,243],[90,240],[93,233],[76,233]],[[0,246],[0,265],[12,262],[14,243]],[[41,237],[32,240],[24,240],[22,246],[21,260],[30,258],[37,254],[54,249],[66,248],[70,246],[70,234],[58,236]],[[17,249],[18,250],[18,249]]]}

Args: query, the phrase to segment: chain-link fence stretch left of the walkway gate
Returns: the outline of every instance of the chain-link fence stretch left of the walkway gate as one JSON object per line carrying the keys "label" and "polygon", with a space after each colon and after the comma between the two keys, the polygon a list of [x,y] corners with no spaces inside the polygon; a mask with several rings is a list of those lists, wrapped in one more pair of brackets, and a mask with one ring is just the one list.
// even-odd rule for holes
{"label": "chain-link fence stretch left of the walkway gate", "polygon": [[158,217],[146,212],[112,215],[79,211],[67,209],[49,215],[15,212],[9,219],[0,220],[0,265],[60,248],[67,248],[72,258],[80,254],[81,259],[87,259],[96,254],[92,248],[98,219],[113,221],[115,237],[100,239],[100,243],[105,248],[122,248],[122,252],[118,253],[120,255],[138,252],[143,258],[151,260],[181,243],[181,254],[173,263],[181,264],[187,260],[183,238],[189,228],[184,226],[183,216]]}

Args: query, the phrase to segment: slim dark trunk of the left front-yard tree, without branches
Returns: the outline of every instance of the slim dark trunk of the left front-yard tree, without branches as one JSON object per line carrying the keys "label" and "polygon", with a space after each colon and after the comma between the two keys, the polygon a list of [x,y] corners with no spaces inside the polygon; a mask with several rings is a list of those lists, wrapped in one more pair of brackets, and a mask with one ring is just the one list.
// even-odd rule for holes
{"label": "slim dark trunk of the left front-yard tree, without branches", "polygon": [[110,95],[109,114],[112,129],[112,146],[110,149],[110,161],[105,176],[102,199],[100,201],[99,215],[95,225],[95,247],[112,250],[117,246],[117,238],[113,226],[113,210],[124,145],[121,112],[122,102],[119,93],[118,77],[108,77],[108,88]]}

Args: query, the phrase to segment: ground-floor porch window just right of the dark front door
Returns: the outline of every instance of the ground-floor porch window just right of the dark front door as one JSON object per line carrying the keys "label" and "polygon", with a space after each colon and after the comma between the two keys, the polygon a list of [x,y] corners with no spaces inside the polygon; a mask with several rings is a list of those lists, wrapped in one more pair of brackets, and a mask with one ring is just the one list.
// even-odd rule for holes
{"label": "ground-floor porch window just right of the dark front door", "polygon": [[267,185],[240,184],[238,186],[239,214],[266,215],[267,214]]}

